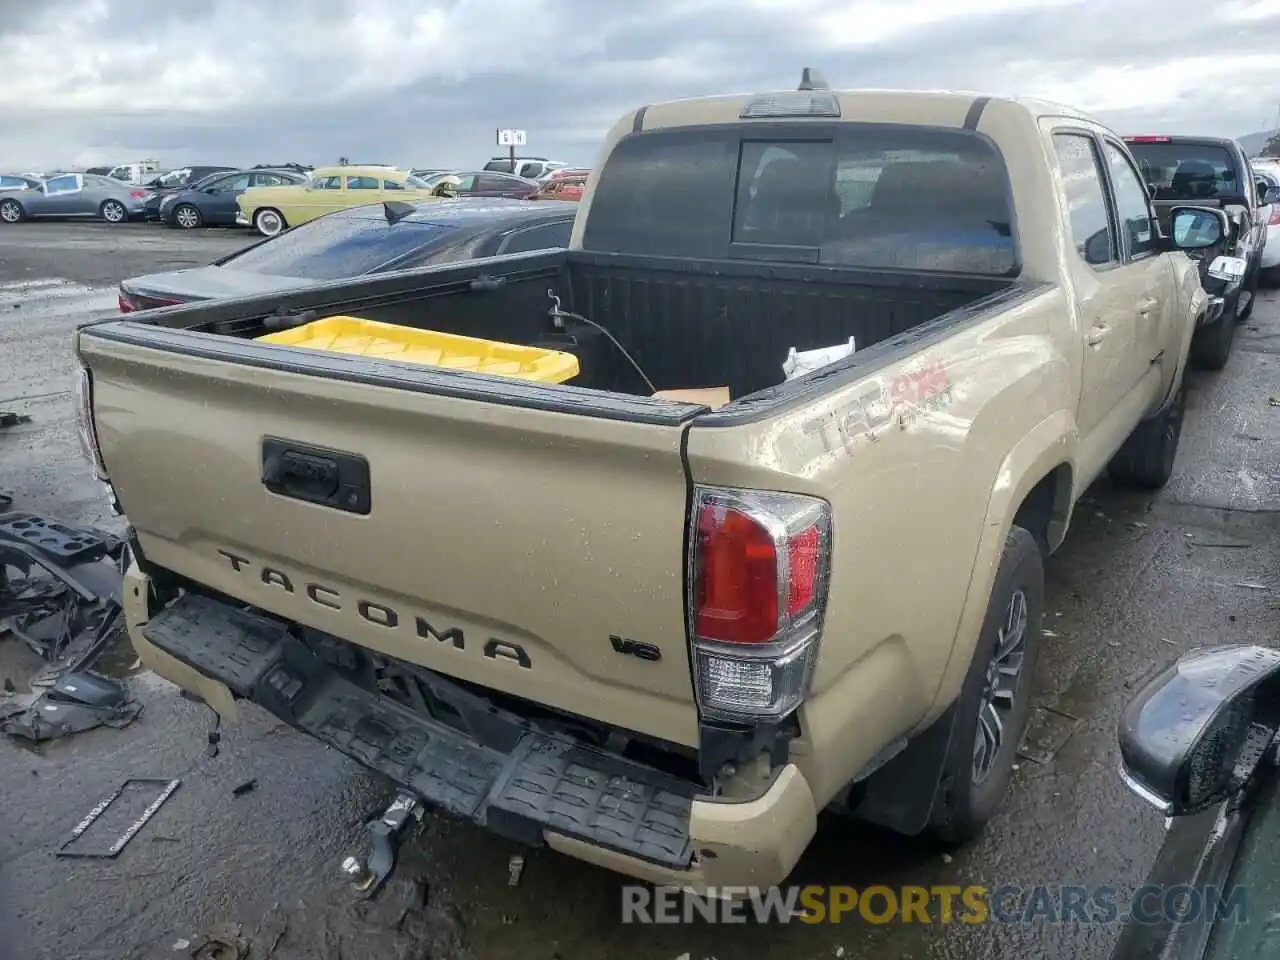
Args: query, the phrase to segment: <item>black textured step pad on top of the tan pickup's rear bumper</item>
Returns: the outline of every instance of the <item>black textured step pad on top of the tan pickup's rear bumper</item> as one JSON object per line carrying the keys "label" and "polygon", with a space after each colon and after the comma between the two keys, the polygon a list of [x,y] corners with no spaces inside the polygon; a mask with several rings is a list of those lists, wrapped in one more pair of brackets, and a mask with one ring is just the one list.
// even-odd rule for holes
{"label": "black textured step pad on top of the tan pickup's rear bumper", "polygon": [[552,831],[664,867],[690,864],[692,783],[536,730],[438,675],[435,692],[463,705],[463,726],[485,742],[357,685],[282,622],[221,600],[183,596],[142,632],[236,695],[498,833],[538,845]]}

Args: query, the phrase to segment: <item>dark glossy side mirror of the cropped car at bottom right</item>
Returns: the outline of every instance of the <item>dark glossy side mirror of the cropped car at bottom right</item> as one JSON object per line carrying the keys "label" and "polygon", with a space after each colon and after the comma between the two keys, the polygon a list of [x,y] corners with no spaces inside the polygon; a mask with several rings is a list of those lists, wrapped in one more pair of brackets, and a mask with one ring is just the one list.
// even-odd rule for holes
{"label": "dark glossy side mirror of the cropped car at bottom right", "polygon": [[1149,681],[1120,717],[1121,777],[1166,817],[1238,794],[1280,728],[1280,650],[1193,650]]}

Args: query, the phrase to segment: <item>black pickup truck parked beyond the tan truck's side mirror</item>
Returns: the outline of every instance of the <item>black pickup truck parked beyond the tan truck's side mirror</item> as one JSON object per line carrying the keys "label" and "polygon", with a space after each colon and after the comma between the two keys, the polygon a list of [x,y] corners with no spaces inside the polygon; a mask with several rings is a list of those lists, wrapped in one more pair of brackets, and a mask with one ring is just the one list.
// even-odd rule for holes
{"label": "black pickup truck parked beyond the tan truck's side mirror", "polygon": [[1215,280],[1221,285],[1224,278],[1208,271],[1219,256],[1243,260],[1244,273],[1224,291],[1221,320],[1197,330],[1192,346],[1201,366],[1221,369],[1235,337],[1234,321],[1245,320],[1253,312],[1267,237],[1268,187],[1254,178],[1248,156],[1234,140],[1148,134],[1125,137],[1125,142],[1147,180],[1156,216],[1166,234],[1170,210],[1175,206],[1194,204],[1220,209],[1230,219],[1231,233],[1221,250],[1199,257],[1201,279],[1206,289],[1213,287]]}

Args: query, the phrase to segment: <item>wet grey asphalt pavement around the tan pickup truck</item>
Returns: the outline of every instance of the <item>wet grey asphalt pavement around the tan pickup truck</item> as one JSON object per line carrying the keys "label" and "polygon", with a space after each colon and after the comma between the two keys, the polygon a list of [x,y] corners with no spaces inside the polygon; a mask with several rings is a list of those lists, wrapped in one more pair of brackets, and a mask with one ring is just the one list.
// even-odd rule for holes
{"label": "wet grey asphalt pavement around the tan pickup truck", "polygon": [[[110,518],[72,425],[70,332],[109,316],[111,285],[207,262],[246,234],[159,227],[0,228],[0,489],[14,508],[74,522]],[[54,283],[52,280],[65,283]],[[1019,764],[984,837],[943,858],[832,819],[796,883],[1084,884],[1144,879],[1162,819],[1116,776],[1115,726],[1128,689],[1198,644],[1276,643],[1280,596],[1280,296],[1263,294],[1221,374],[1193,374],[1178,475],[1158,495],[1100,484],[1048,564],[1037,677],[1042,762]],[[1272,401],[1272,398],[1276,398]],[[128,668],[132,652],[114,662]],[[0,675],[19,689],[38,663],[0,639]],[[1114,924],[623,927],[622,879],[547,850],[520,851],[428,814],[383,899],[353,905],[337,865],[389,799],[355,763],[250,709],[207,754],[207,709],[133,675],[145,703],[127,730],[31,751],[0,739],[0,957],[177,957],[237,925],[253,957],[1053,957],[1105,960]],[[52,850],[128,777],[180,788],[115,860]],[[255,788],[233,788],[256,780]],[[526,854],[518,886],[507,863]],[[5,908],[9,915],[5,915]],[[17,943],[5,954],[4,943]]]}

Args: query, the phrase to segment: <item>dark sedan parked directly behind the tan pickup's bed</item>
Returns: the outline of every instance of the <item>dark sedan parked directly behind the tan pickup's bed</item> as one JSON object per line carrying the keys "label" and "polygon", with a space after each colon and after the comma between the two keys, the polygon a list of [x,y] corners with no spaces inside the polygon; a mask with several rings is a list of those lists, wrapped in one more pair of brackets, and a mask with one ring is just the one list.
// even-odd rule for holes
{"label": "dark sedan parked directly behind the tan pickup's bed", "polygon": [[120,311],[297,289],[430,264],[567,247],[577,204],[503,198],[370,204],[319,216],[210,266],[120,284]]}

